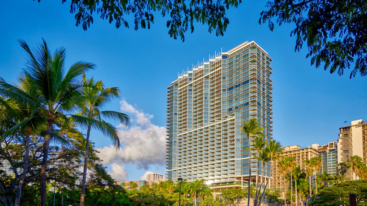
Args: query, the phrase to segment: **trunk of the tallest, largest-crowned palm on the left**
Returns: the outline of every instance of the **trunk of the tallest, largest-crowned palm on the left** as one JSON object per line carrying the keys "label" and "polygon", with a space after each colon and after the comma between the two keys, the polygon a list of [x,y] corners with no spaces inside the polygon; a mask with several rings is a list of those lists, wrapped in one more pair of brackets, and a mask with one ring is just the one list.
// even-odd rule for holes
{"label": "trunk of the tallest, largest-crowned palm on the left", "polygon": [[47,119],[47,130],[45,135],[45,141],[43,143],[43,159],[41,164],[41,206],[46,206],[46,167],[47,167],[47,156],[48,156],[48,146],[50,143],[50,137],[52,132],[52,125],[54,121]]}

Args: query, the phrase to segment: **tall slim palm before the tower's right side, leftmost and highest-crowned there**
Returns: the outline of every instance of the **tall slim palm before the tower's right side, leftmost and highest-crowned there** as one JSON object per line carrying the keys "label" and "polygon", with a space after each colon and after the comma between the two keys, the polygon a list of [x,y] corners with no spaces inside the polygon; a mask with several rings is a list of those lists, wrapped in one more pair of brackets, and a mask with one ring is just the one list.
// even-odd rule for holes
{"label": "tall slim palm before the tower's right side, leftmost and highest-crowned there", "polygon": [[[249,177],[248,177],[248,185],[251,185],[251,136],[252,135],[262,135],[261,131],[263,130],[262,127],[259,126],[259,123],[257,122],[256,119],[250,119],[248,122],[243,121],[243,126],[241,126],[241,130],[247,135],[248,140],[249,140],[249,157],[250,157],[250,172],[249,172]],[[250,196],[250,187],[248,187],[248,196]],[[250,198],[248,198],[247,200],[247,206],[250,206]]]}

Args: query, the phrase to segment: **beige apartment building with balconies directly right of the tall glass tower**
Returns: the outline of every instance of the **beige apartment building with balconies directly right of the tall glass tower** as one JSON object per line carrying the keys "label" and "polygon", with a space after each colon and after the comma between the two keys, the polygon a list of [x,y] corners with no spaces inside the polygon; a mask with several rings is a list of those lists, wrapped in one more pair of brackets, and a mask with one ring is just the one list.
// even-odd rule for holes
{"label": "beige apartment building with balconies directly right of the tall glass tower", "polygon": [[[319,155],[317,148],[314,147],[300,147],[298,145],[292,145],[283,147],[283,152],[280,156],[294,157],[297,166],[301,166],[301,169],[306,169],[305,160],[311,159]],[[282,158],[279,157],[273,162],[273,180],[271,181],[271,188],[277,190],[283,190],[284,182],[283,175],[280,174],[279,161]],[[286,181],[286,192],[288,191],[289,183]]]}

